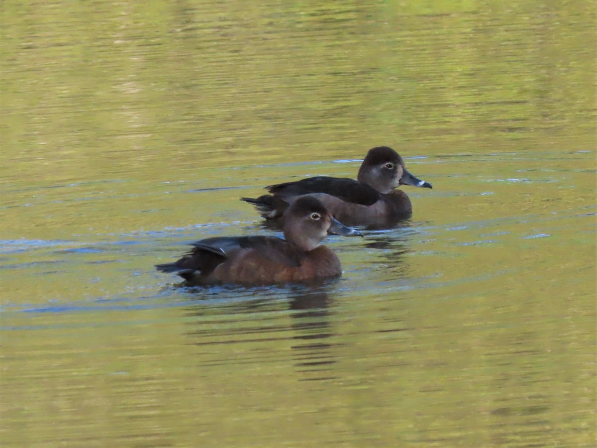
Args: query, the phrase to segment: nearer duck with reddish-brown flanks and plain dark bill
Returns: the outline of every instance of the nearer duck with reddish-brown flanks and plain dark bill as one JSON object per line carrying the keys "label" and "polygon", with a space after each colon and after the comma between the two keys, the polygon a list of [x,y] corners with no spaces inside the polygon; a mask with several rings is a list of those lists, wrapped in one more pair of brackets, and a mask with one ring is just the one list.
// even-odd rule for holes
{"label": "nearer duck with reddish-brown flanks and plain dark bill", "polygon": [[176,272],[187,284],[308,283],[340,277],[340,260],[321,246],[328,234],[360,235],[335,219],[317,198],[297,198],[285,211],[284,238],[256,235],[196,241],[173,263],[156,265]]}

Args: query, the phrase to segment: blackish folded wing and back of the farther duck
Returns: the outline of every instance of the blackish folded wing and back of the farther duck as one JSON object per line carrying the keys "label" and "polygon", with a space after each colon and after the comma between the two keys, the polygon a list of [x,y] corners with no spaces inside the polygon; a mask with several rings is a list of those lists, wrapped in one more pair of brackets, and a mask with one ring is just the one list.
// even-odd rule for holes
{"label": "blackish folded wing and back of the farther duck", "polygon": [[376,189],[354,179],[340,177],[307,177],[296,182],[278,183],[266,187],[267,191],[281,198],[325,193],[353,204],[373,205],[380,198]]}

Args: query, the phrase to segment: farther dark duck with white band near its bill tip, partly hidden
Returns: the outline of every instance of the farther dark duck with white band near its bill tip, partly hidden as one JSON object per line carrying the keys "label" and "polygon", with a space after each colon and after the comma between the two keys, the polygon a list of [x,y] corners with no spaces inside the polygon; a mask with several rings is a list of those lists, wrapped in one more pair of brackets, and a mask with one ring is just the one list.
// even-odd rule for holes
{"label": "farther dark duck with white band near its bill tip, partly hidden", "polygon": [[270,194],[241,198],[255,205],[266,220],[283,220],[288,205],[304,195],[318,198],[332,215],[347,226],[391,227],[410,217],[413,205],[400,185],[432,188],[404,166],[404,160],[389,146],[371,148],[356,180],[316,176],[266,186]]}

